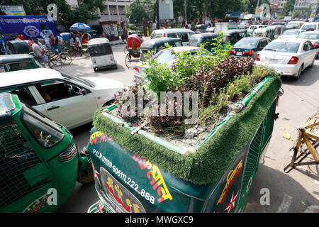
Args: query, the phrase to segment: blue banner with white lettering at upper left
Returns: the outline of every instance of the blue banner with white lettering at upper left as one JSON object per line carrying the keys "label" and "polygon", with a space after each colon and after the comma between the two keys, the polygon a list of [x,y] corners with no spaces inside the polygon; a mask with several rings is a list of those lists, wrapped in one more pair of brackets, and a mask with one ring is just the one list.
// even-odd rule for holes
{"label": "blue banner with white lettering at upper left", "polygon": [[59,35],[55,21],[49,21],[47,16],[0,16],[1,38],[14,40],[19,33],[28,39],[38,35],[52,33]]}

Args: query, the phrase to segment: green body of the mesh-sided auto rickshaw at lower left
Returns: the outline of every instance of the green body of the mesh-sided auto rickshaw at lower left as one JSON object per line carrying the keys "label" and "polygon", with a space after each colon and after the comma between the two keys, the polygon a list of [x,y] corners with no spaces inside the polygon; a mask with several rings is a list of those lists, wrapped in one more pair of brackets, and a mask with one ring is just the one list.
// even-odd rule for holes
{"label": "green body of the mesh-sided auto rickshaw at lower left", "polygon": [[[5,105],[2,95],[0,105]],[[4,190],[0,193],[0,212],[56,211],[72,195],[79,171],[90,162],[80,157],[72,135],[58,124],[63,133],[60,142],[50,148],[40,145],[23,120],[26,106],[21,104],[18,96],[11,97],[14,109],[6,114],[0,113],[0,184]],[[5,133],[12,133],[13,141],[5,138]],[[71,155],[63,161],[61,155],[68,155],[69,151],[72,151]],[[23,155],[26,158],[18,158]],[[18,165],[18,170],[10,167],[11,164]],[[54,203],[48,204],[48,199]]]}

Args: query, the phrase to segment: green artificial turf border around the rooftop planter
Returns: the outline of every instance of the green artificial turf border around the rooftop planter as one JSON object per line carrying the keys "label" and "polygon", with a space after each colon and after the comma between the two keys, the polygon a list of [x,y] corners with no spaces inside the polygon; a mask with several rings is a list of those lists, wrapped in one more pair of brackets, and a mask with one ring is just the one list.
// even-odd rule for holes
{"label": "green artificial turf border around the rooftop planter", "polygon": [[280,87],[279,76],[269,79],[240,114],[230,118],[196,153],[188,156],[164,148],[143,135],[131,135],[127,128],[101,114],[105,107],[96,111],[93,124],[98,131],[111,136],[123,148],[141,155],[176,177],[194,184],[209,184],[223,175],[251,140],[274,103]]}

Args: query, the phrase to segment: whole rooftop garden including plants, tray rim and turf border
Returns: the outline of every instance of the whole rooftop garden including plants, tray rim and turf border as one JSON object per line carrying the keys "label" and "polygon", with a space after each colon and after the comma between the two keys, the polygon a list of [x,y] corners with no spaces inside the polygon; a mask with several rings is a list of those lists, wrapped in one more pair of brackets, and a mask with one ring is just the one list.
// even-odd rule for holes
{"label": "whole rooftop garden including plants, tray rim and turf border", "polygon": [[267,145],[281,87],[274,70],[230,57],[230,48],[177,52],[172,67],[150,58],[146,83],[116,93],[116,105],[94,114],[94,127],[181,179],[215,182],[261,125],[259,147]]}

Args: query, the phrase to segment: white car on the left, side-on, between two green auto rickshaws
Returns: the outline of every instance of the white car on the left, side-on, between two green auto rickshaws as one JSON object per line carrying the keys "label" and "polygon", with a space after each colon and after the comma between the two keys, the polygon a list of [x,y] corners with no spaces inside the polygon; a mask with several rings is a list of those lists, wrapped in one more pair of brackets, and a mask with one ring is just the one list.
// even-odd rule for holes
{"label": "white car on the left, side-on, between two green auto rickshaws", "polygon": [[72,77],[45,68],[4,72],[0,78],[0,93],[17,94],[24,104],[67,129],[91,122],[96,109],[125,87],[113,79]]}

